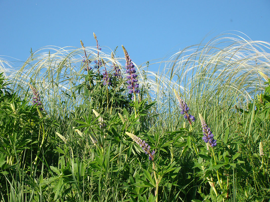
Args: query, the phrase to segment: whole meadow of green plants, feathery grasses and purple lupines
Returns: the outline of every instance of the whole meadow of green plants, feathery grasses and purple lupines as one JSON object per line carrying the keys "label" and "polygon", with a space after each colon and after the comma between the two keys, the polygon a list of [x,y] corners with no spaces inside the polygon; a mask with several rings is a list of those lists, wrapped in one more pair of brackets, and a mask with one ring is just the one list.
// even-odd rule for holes
{"label": "whole meadow of green plants, feathery grasses and purple lupines", "polygon": [[269,43],[137,67],[94,37],[0,61],[0,201],[269,201]]}

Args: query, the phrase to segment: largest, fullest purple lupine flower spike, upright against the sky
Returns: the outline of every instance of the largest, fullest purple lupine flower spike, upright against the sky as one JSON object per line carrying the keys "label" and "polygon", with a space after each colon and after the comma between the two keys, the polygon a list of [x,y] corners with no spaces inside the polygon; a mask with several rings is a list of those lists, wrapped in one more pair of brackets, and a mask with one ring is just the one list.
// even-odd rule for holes
{"label": "largest, fullest purple lupine flower spike, upright against the sky", "polygon": [[134,94],[136,95],[137,93],[140,92],[140,90],[138,90],[139,88],[139,83],[138,82],[138,79],[137,78],[137,74],[136,73],[136,70],[135,70],[135,66],[133,64],[133,62],[131,61],[130,57],[129,57],[129,54],[127,53],[127,50],[126,48],[122,45],[122,48],[124,50],[124,54],[125,54],[125,58],[126,58],[126,73],[129,74],[127,76],[127,84],[129,84],[127,86],[127,89],[129,89],[129,94]]}

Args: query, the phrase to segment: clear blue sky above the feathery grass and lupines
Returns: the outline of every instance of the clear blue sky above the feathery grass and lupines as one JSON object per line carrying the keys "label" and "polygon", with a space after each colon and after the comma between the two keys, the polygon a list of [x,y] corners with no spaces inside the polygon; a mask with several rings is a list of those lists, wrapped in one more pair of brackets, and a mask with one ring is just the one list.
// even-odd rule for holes
{"label": "clear blue sky above the feathery grass and lupines", "polygon": [[31,47],[95,46],[95,32],[138,65],[228,30],[269,42],[270,1],[0,0],[0,27],[0,55],[25,61]]}

